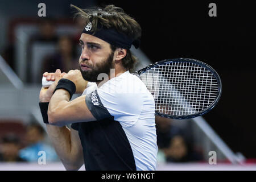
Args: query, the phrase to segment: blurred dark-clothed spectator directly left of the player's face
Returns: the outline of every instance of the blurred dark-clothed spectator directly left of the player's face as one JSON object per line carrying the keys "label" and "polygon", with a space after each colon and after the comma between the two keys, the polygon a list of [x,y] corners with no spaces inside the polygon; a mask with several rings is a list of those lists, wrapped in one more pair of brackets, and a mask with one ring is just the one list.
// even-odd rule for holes
{"label": "blurred dark-clothed spectator directly left of the player's face", "polygon": [[41,75],[44,72],[55,72],[56,69],[63,72],[78,69],[76,46],[73,45],[72,39],[69,36],[61,36],[57,46],[58,51],[44,59]]}

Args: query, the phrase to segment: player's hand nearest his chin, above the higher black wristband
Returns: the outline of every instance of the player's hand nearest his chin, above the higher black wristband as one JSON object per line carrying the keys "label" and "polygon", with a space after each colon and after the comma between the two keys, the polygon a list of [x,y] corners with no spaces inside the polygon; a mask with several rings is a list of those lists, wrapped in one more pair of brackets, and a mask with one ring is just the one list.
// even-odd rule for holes
{"label": "player's hand nearest his chin, above the higher black wristband", "polygon": [[78,69],[71,70],[67,74],[63,76],[63,78],[66,78],[76,85],[76,93],[82,93],[84,92],[88,81],[84,80],[82,77],[81,72]]}

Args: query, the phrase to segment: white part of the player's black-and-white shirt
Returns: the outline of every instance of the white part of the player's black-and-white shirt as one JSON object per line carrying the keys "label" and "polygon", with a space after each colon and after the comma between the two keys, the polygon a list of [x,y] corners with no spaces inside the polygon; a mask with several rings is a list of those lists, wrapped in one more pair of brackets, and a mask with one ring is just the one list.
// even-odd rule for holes
{"label": "white part of the player's black-and-white shirt", "polygon": [[[155,170],[158,146],[156,144],[155,102],[146,85],[135,75],[126,71],[105,82],[100,88],[90,83],[84,90],[86,104],[92,105],[94,117],[98,97],[114,121],[118,121],[129,140],[137,170]],[[87,100],[90,100],[87,102]],[[95,107],[94,107],[95,106]],[[102,109],[102,107],[101,107]]]}

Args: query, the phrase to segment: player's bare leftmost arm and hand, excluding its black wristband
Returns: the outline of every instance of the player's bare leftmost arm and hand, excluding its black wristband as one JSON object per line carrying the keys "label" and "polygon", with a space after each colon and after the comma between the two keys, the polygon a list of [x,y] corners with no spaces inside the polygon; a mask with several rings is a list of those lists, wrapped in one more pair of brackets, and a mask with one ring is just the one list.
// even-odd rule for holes
{"label": "player's bare leftmost arm and hand, excluding its black wristband", "polygon": [[[57,70],[54,75],[49,73],[46,73],[46,75],[47,80],[55,80],[55,83],[49,86],[48,89],[41,89],[39,96],[40,102],[49,102],[51,100],[57,82],[60,80],[61,76],[63,76],[59,70]],[[82,164],[84,164],[78,131],[68,129],[67,126],[46,126],[49,138],[64,167],[67,170],[78,170]]]}

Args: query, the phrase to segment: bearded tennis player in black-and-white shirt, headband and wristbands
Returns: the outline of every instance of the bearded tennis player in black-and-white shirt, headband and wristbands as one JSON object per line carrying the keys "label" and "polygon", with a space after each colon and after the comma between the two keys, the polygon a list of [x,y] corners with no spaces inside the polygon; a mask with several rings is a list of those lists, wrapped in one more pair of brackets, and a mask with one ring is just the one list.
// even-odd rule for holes
{"label": "bearded tennis player in black-and-white shirt, headband and wristbands", "polygon": [[[86,22],[80,71],[44,73],[55,82],[39,96],[49,138],[68,170],[82,164],[86,170],[155,170],[154,98],[129,72],[135,63],[130,48],[138,48],[141,27],[114,5],[76,9]],[[85,89],[87,81],[97,86]],[[73,93],[82,96],[70,101]]]}

